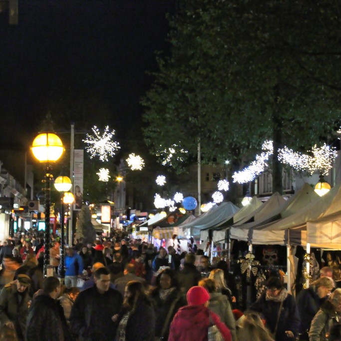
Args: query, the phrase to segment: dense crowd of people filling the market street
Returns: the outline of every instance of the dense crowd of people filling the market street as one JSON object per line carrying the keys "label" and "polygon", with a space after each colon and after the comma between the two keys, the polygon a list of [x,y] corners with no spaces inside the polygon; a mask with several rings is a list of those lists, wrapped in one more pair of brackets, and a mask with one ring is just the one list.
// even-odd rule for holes
{"label": "dense crowd of people filling the market street", "polygon": [[0,340],[341,340],[341,289],[328,267],[296,299],[271,276],[242,312],[228,264],[212,267],[200,250],[157,250],[117,230],[68,246],[64,264],[52,235],[49,255],[55,275],[44,279],[39,236],[2,244]]}

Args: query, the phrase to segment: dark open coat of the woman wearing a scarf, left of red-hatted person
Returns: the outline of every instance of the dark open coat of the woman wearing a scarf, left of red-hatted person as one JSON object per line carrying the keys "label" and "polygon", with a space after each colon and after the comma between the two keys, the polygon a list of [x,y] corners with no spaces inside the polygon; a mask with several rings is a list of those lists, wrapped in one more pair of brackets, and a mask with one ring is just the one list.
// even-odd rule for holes
{"label": "dark open coat of the woman wearing a scarf, left of red-hatted person", "polygon": [[173,304],[173,302],[176,301],[173,312],[169,318],[169,321],[167,323],[166,332],[164,334],[164,339],[168,339],[168,333],[169,333],[169,326],[173,320],[174,315],[177,313],[179,308],[186,306],[187,301],[185,296],[180,292],[179,289],[175,289],[173,292],[171,292],[165,300],[161,300],[160,298],[160,288],[155,288],[150,295],[155,316],[156,316],[156,324],[155,324],[155,336],[160,337],[162,333],[162,329],[164,324],[166,323],[166,319],[168,316],[168,312]]}

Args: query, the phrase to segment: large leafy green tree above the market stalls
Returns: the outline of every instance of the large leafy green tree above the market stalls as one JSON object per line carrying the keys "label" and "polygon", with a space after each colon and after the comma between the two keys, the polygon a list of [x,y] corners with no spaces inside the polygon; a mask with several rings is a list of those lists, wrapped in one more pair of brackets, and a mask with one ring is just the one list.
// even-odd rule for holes
{"label": "large leafy green tree above the market stalls", "polygon": [[306,150],[339,121],[339,13],[327,0],[183,1],[171,56],[158,58],[142,100],[153,152],[181,141],[193,156],[200,139],[204,161],[238,165],[272,139],[273,190],[282,192],[277,149]]}

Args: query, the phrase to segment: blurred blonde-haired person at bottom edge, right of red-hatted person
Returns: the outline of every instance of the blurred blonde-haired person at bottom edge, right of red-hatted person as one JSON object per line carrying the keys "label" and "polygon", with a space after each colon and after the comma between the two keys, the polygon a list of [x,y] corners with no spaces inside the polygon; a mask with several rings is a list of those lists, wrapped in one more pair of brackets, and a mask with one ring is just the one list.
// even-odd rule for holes
{"label": "blurred blonde-haired person at bottom edge, right of red-hatted person", "polygon": [[245,314],[238,329],[239,341],[274,341],[268,329],[265,328],[259,314],[250,312]]}

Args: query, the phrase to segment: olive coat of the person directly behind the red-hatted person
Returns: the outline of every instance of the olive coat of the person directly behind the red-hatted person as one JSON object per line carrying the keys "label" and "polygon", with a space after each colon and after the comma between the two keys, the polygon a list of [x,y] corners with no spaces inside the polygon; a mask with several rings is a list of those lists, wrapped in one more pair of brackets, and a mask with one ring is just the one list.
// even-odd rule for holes
{"label": "olive coat of the person directly behind the red-hatted person", "polygon": [[208,309],[220,317],[221,322],[230,330],[232,340],[237,341],[236,321],[227,297],[220,293],[211,293]]}

